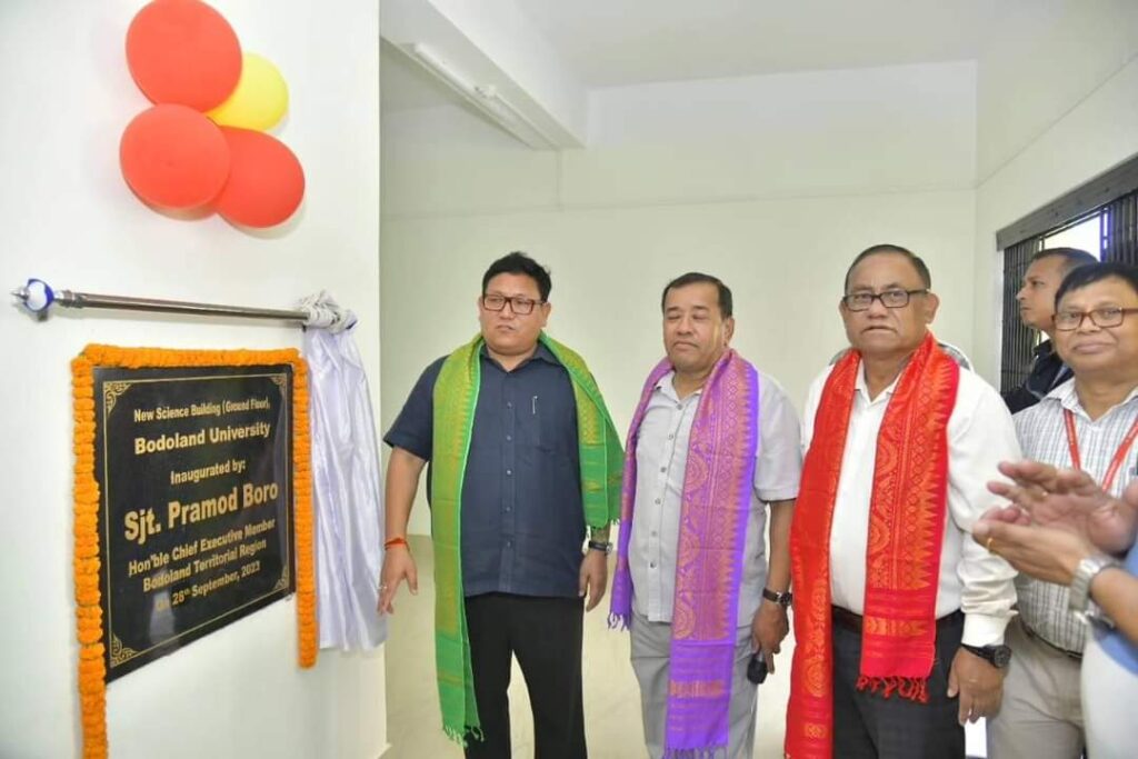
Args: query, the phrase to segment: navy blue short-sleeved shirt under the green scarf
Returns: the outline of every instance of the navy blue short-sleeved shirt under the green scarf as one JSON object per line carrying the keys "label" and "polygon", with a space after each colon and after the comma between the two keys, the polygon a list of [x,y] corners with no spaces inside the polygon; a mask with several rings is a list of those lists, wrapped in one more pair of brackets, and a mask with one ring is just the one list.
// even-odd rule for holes
{"label": "navy blue short-sleeved shirt under the green scarf", "polygon": [[[430,461],[435,381],[419,378],[384,436]],[[569,373],[544,345],[506,372],[483,346],[481,387],[462,484],[462,585],[467,596],[578,596],[585,511],[577,404]],[[427,493],[430,500],[430,470]]]}

